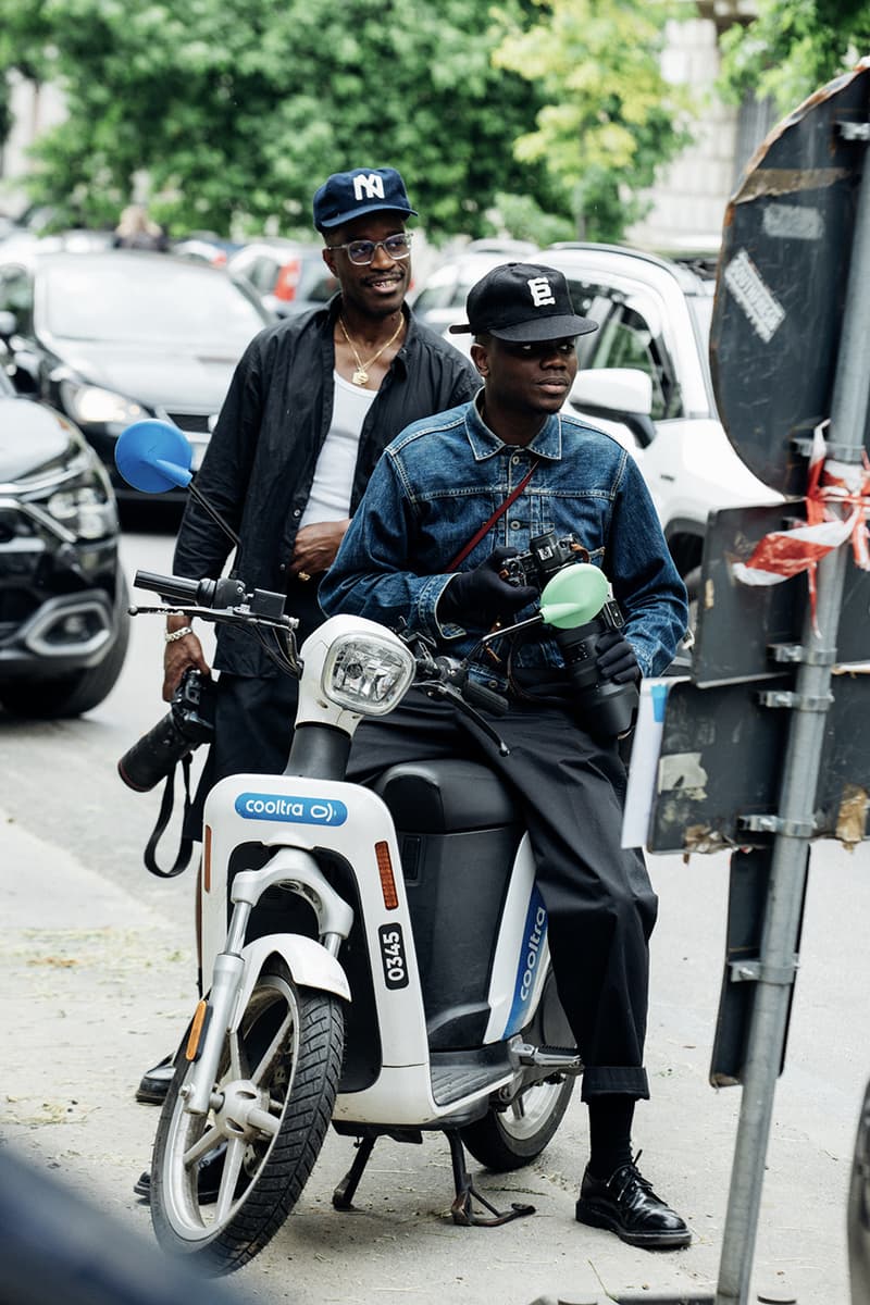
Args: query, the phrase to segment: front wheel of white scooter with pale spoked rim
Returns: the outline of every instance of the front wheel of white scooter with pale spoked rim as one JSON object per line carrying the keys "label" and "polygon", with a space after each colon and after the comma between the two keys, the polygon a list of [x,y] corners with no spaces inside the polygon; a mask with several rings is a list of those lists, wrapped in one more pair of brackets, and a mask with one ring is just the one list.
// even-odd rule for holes
{"label": "front wheel of white scooter with pale spoked rim", "polygon": [[340,1002],[265,970],[224,1039],[207,1116],[185,1111],[192,1066],[180,1054],[151,1164],[160,1246],[228,1274],[280,1228],[320,1155],[344,1043]]}

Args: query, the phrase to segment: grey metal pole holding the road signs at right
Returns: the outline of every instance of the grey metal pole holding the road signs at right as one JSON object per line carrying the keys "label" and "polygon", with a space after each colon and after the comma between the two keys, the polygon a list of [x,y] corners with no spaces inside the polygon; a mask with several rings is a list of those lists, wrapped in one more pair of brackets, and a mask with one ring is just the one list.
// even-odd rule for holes
{"label": "grey metal pole holding the road signs at right", "polygon": [[[847,290],[843,335],[831,402],[831,435],[840,462],[860,463],[870,398],[870,166],[865,166]],[[803,647],[835,649],[843,586],[849,557],[845,547],[819,562],[818,626],[820,641],[805,624]],[[764,1181],[764,1159],[773,1112],[789,997],[797,968],[797,941],[803,899],[806,848],[822,761],[827,713],[819,702],[831,690],[831,667],[803,662],[797,673],[796,710],[789,729],[779,831],[773,842],[767,912],[760,950],[743,1094],[734,1146],[728,1212],[723,1235],[716,1305],[747,1305],[755,1233]]]}

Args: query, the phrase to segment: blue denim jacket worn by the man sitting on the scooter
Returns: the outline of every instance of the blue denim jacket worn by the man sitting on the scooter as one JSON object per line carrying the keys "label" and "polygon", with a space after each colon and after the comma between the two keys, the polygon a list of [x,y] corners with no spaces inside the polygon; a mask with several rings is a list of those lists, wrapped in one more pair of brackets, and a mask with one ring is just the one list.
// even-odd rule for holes
{"label": "blue denim jacket worn by the man sitting on the scooter", "polygon": [[[381,455],[321,583],[323,611],[393,628],[404,617],[411,629],[434,637],[441,651],[471,654],[479,636],[438,620],[438,599],[451,578],[446,568],[533,458],[540,461],[531,482],[460,569],[473,569],[503,544],[526,552],[535,535],[573,532],[612,583],[642,673],[660,673],[686,629],[685,586],[634,458],[565,414],[549,416],[523,448],[503,444],[473,401],[408,425]],[[533,611],[530,606],[520,615]],[[514,663],[547,677],[563,660],[545,628],[535,629],[515,647]],[[475,677],[505,685],[488,659],[480,659]]]}

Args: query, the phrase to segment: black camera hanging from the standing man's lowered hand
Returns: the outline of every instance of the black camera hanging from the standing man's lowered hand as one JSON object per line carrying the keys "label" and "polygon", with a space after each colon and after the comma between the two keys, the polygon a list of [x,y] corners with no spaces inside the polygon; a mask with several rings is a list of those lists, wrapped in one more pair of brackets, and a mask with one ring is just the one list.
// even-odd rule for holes
{"label": "black camera hanging from the standing man's lowered hand", "polygon": [[188,667],[167,714],[124,753],[117,773],[129,788],[146,793],[176,762],[214,735],[214,684]]}

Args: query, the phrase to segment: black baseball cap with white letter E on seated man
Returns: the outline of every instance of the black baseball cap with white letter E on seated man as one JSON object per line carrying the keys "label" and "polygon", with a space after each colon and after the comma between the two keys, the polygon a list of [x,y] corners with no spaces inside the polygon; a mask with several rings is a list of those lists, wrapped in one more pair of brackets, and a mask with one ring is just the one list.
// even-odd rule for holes
{"label": "black baseball cap with white letter E on seated man", "polygon": [[587,335],[599,329],[597,322],[574,312],[562,273],[533,262],[493,268],[468,291],[466,312],[467,322],[450,326],[454,335],[471,331],[524,343]]}

